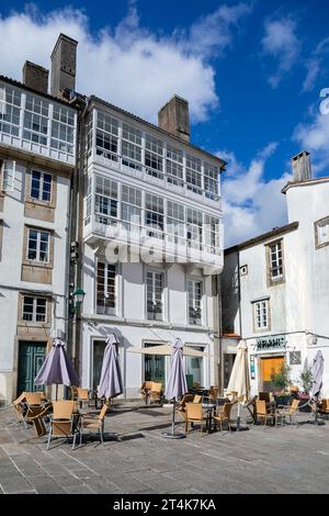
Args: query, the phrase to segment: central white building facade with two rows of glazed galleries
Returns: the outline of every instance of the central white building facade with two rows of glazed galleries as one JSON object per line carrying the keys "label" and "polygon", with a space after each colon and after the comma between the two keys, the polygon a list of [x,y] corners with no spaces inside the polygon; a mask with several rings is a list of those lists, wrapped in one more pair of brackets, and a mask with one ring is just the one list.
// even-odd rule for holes
{"label": "central white building facade with two rows of glazed galleries", "polygon": [[97,98],[89,99],[86,132],[82,384],[98,385],[114,333],[125,397],[139,396],[144,380],[164,385],[169,366],[169,358],[129,348],[177,337],[209,355],[186,363],[191,381],[208,386],[218,352],[213,282],[223,269],[225,162]]}

